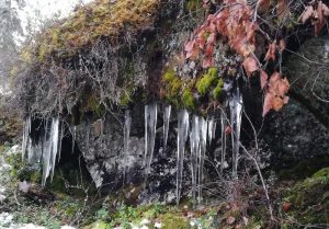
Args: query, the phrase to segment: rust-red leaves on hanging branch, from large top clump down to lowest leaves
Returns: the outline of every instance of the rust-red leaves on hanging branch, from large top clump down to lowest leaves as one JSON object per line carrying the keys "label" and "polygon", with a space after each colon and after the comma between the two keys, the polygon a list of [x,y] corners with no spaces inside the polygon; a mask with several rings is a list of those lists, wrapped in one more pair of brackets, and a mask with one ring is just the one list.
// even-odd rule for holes
{"label": "rust-red leaves on hanging branch, from large top clump down to lowest leaves", "polygon": [[[214,49],[217,38],[220,37],[232,50],[243,57],[242,66],[248,77],[256,71],[260,72],[261,87],[265,94],[263,115],[270,110],[279,111],[288,100],[285,94],[290,89],[290,83],[279,72],[274,72],[269,78],[268,73],[261,69],[261,64],[254,55],[256,45],[258,45],[256,42],[258,23],[252,20],[253,8],[248,4],[247,0],[223,0],[223,5],[226,7],[215,14],[209,14],[205,23],[194,32],[193,38],[185,44],[185,58],[202,59],[203,68],[213,66]],[[257,9],[266,11],[270,5],[270,0],[258,0]],[[284,14],[286,10],[288,11],[286,1],[277,0],[276,11],[281,12],[279,14]],[[276,53],[284,49],[284,39],[270,43],[264,61],[275,61]]]}

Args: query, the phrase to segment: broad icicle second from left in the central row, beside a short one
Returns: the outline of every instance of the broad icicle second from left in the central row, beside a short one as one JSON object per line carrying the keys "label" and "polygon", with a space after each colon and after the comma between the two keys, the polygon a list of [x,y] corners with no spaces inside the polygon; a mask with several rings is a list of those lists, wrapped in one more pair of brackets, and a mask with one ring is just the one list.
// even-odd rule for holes
{"label": "broad icicle second from left in the central row, beside a short one", "polygon": [[145,181],[150,173],[150,164],[154,157],[156,129],[157,129],[157,103],[145,105]]}

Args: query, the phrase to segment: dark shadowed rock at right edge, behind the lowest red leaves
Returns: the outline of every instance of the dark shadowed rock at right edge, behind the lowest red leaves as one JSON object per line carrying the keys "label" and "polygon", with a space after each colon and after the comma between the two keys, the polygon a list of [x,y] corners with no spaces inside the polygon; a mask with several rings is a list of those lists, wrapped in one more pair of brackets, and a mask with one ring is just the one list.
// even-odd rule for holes
{"label": "dark shadowed rock at right edge, behind the lowest red leaves", "polygon": [[262,133],[274,152],[272,165],[329,157],[329,38],[309,39],[297,54],[285,65],[291,100],[264,121]]}

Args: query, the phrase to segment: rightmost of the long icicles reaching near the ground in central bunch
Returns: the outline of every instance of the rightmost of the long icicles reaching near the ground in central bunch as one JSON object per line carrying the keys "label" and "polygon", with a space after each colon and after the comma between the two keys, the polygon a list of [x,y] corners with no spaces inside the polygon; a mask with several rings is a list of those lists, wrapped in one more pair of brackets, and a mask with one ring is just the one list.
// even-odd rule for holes
{"label": "rightmost of the long icicles reaching near the ground in central bunch", "polygon": [[202,199],[202,186],[203,186],[203,168],[204,168],[204,158],[207,146],[207,122],[203,117],[198,117],[200,125],[200,150],[198,150],[198,171],[197,171],[197,202]]}

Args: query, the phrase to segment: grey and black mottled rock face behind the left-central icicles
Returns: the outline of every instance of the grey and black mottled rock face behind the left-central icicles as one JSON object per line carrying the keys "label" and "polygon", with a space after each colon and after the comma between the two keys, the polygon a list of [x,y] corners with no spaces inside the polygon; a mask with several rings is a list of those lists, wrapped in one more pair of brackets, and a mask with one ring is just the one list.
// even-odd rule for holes
{"label": "grey and black mottled rock face behind the left-central icicles", "polygon": [[[161,108],[161,105],[158,105]],[[175,198],[175,141],[174,129],[168,136],[163,150],[162,112],[158,114],[156,144],[150,175],[146,188],[141,188],[139,201],[166,201]],[[88,170],[98,187],[104,192],[123,185],[140,185],[144,182],[144,105],[136,104],[132,111],[132,128],[128,153],[124,156],[123,114],[110,114],[103,121],[84,121],[76,127],[76,141],[87,162]],[[174,121],[172,119],[172,123]],[[186,179],[188,180],[188,179]],[[190,180],[188,180],[189,183]]]}

